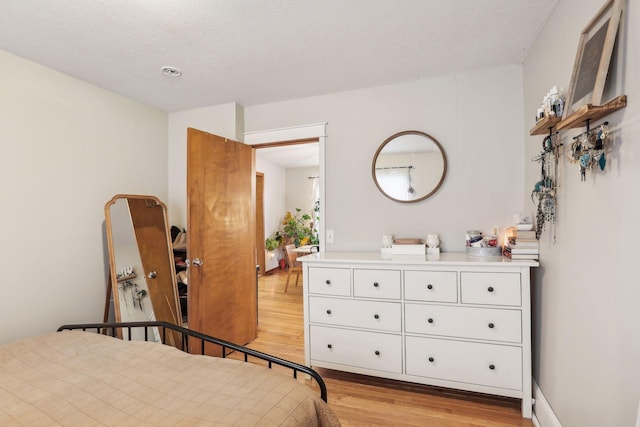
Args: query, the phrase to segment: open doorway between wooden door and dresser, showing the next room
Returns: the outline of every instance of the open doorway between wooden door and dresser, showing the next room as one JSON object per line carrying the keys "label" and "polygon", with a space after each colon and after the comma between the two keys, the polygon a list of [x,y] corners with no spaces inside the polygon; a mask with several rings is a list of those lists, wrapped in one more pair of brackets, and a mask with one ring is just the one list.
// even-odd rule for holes
{"label": "open doorway between wooden door and dresser, showing the next room", "polygon": [[[282,269],[282,248],[265,250],[265,238],[281,229],[285,212],[316,215],[315,201],[319,193],[319,144],[303,142],[285,146],[256,147],[256,252],[260,265],[257,279],[258,330],[267,332],[279,349],[303,337],[301,275]],[[314,194],[314,190],[315,194]],[[274,200],[278,199],[278,200]],[[318,204],[319,205],[319,204]],[[300,214],[297,214],[300,216]],[[259,224],[263,224],[262,227]],[[318,226],[315,221],[314,227]],[[260,260],[262,255],[262,261]],[[290,284],[289,284],[290,281]],[[289,284],[289,286],[287,286]],[[285,292],[285,290],[287,290]],[[282,318],[274,323],[274,313]]]}

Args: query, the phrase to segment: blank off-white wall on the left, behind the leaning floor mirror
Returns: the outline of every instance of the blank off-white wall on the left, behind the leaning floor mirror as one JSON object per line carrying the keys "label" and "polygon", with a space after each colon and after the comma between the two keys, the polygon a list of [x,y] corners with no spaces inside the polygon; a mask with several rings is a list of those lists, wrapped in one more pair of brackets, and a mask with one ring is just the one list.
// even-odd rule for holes
{"label": "blank off-white wall on the left, behind the leaning floor mirror", "polygon": [[167,198],[167,115],[0,51],[0,343],[101,321],[104,205]]}

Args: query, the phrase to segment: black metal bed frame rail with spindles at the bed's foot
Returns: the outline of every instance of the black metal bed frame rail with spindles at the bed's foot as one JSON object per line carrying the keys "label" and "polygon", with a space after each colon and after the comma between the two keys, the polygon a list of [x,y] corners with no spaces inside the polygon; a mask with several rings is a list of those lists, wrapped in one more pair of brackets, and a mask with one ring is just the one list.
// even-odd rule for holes
{"label": "black metal bed frame rail with spindles at the bed's foot", "polygon": [[[289,360],[280,359],[279,357],[272,356],[267,353],[262,353],[260,351],[256,351],[238,344],[234,344],[229,341],[225,341],[219,338],[212,337],[210,335],[203,334],[201,332],[193,331],[191,329],[183,328],[182,326],[173,325],[168,322],[160,322],[160,321],[149,321],[149,322],[119,322],[119,323],[83,323],[83,324],[71,324],[71,325],[62,325],[58,328],[58,332],[63,330],[92,330],[95,329],[96,333],[108,335],[114,338],[119,338],[122,335],[123,330],[127,330],[128,340],[131,340],[131,331],[137,328],[144,328],[144,340],[149,341],[150,328],[158,328],[160,333],[160,338],[162,344],[166,344],[166,336],[167,330],[174,331],[180,334],[181,342],[179,349],[184,352],[189,352],[189,339],[192,338],[195,340],[199,340],[200,345],[200,354],[204,355],[205,343],[217,345],[222,349],[222,358],[226,358],[228,354],[232,352],[239,352],[244,355],[244,361],[249,361],[249,356],[255,357],[260,360],[264,360],[267,362],[268,368],[271,369],[273,365],[283,366],[285,368],[289,368],[293,371],[293,378],[298,378],[298,372],[302,372],[306,375],[312,377],[318,386],[320,387],[320,397],[325,402],[327,401],[327,386],[316,371],[309,368],[308,366],[300,365],[298,363],[291,362]],[[169,345],[169,344],[166,344]]]}

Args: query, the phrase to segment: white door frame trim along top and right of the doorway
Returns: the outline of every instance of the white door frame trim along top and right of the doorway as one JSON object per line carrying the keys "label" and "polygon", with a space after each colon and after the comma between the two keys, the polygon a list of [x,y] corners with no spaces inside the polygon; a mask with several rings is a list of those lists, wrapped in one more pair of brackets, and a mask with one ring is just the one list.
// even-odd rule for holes
{"label": "white door frame trim along top and right of the doorway", "polygon": [[320,252],[325,251],[326,245],[326,197],[325,197],[325,144],[327,139],[327,123],[292,126],[287,128],[269,129],[244,133],[244,143],[256,146],[289,145],[318,141],[319,149],[319,187],[320,187],[320,224],[318,235],[320,238]]}

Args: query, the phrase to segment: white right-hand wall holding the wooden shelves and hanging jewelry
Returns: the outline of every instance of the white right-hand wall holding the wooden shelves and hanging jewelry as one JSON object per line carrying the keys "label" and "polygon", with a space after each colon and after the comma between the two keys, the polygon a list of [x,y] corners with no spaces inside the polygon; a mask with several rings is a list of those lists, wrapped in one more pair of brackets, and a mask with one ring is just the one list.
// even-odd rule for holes
{"label": "white right-hand wall holding the wooden shelves and hanging jewelry", "polygon": [[[603,3],[561,0],[544,27],[524,64],[527,135],[549,88],[566,92],[580,32]],[[563,153],[557,242],[551,230],[543,234],[534,275],[534,376],[564,427],[632,426],[640,401],[640,8],[628,3],[604,100],[626,94],[629,102],[606,117],[614,141],[606,170],[580,182]],[[562,134],[564,150],[583,130]],[[541,141],[525,138],[525,159],[540,152]],[[540,170],[529,161],[525,167],[526,199]]]}

